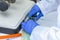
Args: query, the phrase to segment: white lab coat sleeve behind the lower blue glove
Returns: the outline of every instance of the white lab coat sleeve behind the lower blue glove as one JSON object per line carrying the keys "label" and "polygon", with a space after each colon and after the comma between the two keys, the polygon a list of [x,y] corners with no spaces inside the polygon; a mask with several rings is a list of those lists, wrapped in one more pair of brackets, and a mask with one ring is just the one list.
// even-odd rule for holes
{"label": "white lab coat sleeve behind the lower blue glove", "polygon": [[56,27],[37,26],[32,31],[30,40],[60,40],[60,29]]}

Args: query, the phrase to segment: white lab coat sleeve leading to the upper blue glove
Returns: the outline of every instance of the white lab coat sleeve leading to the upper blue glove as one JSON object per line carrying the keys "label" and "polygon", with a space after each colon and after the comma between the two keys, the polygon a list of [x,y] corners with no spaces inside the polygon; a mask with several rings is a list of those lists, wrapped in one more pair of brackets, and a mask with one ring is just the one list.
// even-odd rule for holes
{"label": "white lab coat sleeve leading to the upper blue glove", "polygon": [[48,13],[57,9],[56,0],[41,0],[36,5],[42,10],[43,13]]}

